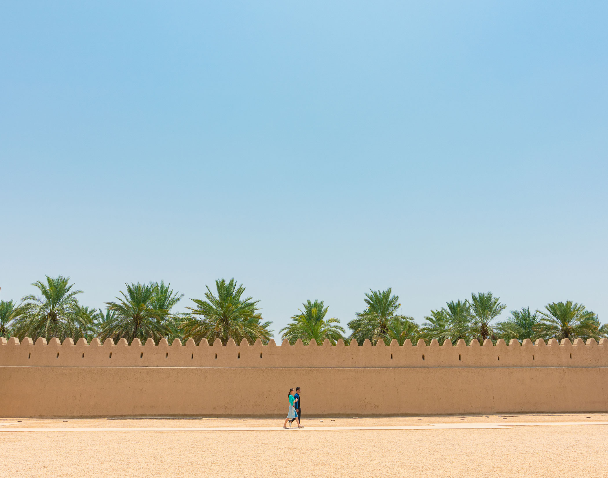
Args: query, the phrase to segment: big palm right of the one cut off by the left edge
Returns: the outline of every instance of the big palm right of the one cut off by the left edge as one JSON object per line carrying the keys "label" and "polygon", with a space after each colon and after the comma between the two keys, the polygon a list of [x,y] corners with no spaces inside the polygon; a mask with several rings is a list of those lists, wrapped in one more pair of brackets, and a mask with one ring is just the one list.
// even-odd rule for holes
{"label": "big palm right of the one cut off by the left edge", "polygon": [[72,290],[69,277],[46,276],[46,283],[38,281],[32,285],[41,296],[29,295],[13,312],[15,334],[22,340],[26,337],[36,341],[39,337],[49,340],[57,337],[77,340],[86,335],[91,327],[91,317],[83,313],[76,296],[82,291]]}

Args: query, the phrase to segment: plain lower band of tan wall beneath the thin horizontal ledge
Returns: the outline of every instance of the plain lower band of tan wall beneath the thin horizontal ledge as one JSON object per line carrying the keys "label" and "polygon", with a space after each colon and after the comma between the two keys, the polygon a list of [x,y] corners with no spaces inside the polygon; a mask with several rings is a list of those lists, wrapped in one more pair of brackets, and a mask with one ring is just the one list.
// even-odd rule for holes
{"label": "plain lower band of tan wall beneath the thin horizontal ledge", "polygon": [[608,410],[608,369],[0,367],[2,417],[312,416]]}

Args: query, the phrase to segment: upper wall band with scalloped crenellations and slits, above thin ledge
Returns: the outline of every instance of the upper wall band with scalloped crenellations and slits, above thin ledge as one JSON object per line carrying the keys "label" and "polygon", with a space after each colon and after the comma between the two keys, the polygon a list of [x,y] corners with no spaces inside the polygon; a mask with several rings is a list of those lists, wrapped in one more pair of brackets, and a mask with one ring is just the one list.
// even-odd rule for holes
{"label": "upper wall band with scalloped crenellations and slits, above thin ledge", "polygon": [[232,339],[222,345],[219,339],[209,344],[203,339],[196,345],[193,339],[185,344],[175,339],[171,344],[161,339],[156,344],[147,339],[142,344],[134,339],[131,344],[120,339],[102,342],[95,338],[90,344],[80,338],[67,338],[63,344],[57,338],[47,342],[43,338],[0,339],[0,366],[29,367],[608,367],[608,339],[587,342],[551,339],[522,344],[511,340],[507,345],[500,339],[496,344],[487,339],[483,344],[473,340],[469,344],[460,339],[440,345],[433,339],[427,345],[422,339],[413,345],[406,340],[399,345],[379,341],[362,345],[340,339],[336,345],[328,340],[317,345],[301,340],[289,345],[274,340],[263,345],[258,339],[250,345],[245,339],[239,345]]}

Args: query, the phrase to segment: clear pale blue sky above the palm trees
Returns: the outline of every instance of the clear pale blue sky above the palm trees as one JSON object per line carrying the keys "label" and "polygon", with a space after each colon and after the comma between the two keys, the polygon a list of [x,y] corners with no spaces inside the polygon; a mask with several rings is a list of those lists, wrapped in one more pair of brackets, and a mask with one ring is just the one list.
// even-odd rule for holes
{"label": "clear pale blue sky above the palm trees", "polygon": [[[608,320],[606,1],[0,7],[0,297],[235,277],[282,328],[389,286]],[[503,313],[502,318],[507,317]]]}

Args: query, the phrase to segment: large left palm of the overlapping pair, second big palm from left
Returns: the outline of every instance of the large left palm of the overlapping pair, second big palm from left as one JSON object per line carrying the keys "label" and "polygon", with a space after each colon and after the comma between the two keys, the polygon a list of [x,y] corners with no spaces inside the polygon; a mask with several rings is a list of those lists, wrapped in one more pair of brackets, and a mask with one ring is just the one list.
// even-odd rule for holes
{"label": "large left palm of the overlapping pair, second big palm from left", "polygon": [[119,302],[106,302],[108,311],[113,312],[111,318],[104,322],[100,338],[112,338],[116,342],[125,338],[128,342],[140,339],[145,342],[148,338],[159,341],[168,333],[165,319],[169,315],[166,309],[154,306],[154,286],[131,284],[126,286],[126,294],[120,291],[122,297],[116,297]]}

